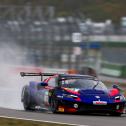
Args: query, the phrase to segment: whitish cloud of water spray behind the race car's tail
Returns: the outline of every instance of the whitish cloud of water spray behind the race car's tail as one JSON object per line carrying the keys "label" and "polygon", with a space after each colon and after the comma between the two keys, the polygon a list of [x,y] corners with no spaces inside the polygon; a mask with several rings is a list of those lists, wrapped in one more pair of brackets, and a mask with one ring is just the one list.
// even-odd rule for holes
{"label": "whitish cloud of water spray behind the race car's tail", "polygon": [[19,73],[20,67],[31,66],[27,51],[15,43],[0,44],[0,107],[23,109],[21,89],[30,78],[21,78]]}

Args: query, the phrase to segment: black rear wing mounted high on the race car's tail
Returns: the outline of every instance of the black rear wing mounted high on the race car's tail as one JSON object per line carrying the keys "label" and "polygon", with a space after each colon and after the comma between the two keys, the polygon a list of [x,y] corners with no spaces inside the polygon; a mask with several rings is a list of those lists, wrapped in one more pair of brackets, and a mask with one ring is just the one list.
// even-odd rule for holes
{"label": "black rear wing mounted high on the race car's tail", "polygon": [[40,76],[41,77],[41,81],[43,80],[43,76],[54,76],[57,75],[57,73],[27,73],[27,72],[20,72],[21,77],[24,76]]}

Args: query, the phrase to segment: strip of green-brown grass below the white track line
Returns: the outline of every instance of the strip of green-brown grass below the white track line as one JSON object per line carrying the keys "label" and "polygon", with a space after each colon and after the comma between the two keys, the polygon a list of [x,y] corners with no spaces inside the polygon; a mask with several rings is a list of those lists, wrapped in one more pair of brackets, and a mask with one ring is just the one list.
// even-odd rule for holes
{"label": "strip of green-brown grass below the white track line", "polygon": [[68,126],[68,125],[0,117],[0,126]]}

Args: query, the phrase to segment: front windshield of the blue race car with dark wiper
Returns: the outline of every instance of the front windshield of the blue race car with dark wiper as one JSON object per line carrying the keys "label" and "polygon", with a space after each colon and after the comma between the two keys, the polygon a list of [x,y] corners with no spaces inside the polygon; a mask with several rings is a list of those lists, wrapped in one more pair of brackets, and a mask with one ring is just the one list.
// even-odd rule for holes
{"label": "front windshield of the blue race car with dark wiper", "polygon": [[99,80],[90,79],[69,79],[63,80],[62,86],[66,88],[77,88],[77,89],[96,89],[96,90],[106,90],[107,87]]}

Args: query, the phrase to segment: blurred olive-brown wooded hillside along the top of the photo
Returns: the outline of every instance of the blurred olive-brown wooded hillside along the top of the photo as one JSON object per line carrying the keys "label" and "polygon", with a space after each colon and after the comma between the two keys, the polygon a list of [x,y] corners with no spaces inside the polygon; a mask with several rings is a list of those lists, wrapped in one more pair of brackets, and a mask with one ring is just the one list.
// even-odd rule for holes
{"label": "blurred olive-brown wooded hillside along the top of the photo", "polygon": [[125,0],[0,0],[0,5],[54,6],[56,16],[83,14],[95,21],[112,19],[119,22],[125,16]]}

